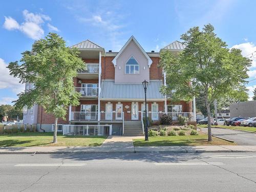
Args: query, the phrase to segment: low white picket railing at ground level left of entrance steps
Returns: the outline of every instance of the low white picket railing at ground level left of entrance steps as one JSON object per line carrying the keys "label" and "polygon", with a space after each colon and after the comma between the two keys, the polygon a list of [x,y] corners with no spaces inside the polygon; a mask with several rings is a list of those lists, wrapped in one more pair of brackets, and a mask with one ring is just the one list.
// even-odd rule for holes
{"label": "low white picket railing at ground level left of entrance steps", "polygon": [[111,125],[63,125],[63,135],[112,135]]}

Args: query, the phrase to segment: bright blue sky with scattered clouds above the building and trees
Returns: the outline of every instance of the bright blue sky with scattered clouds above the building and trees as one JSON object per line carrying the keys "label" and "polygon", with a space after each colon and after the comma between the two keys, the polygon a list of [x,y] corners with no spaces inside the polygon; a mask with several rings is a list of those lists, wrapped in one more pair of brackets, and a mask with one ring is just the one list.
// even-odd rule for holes
{"label": "bright blue sky with scattered clouds above the building and trees", "polygon": [[[8,63],[49,32],[65,38],[67,46],[90,39],[113,51],[134,35],[145,51],[159,51],[190,27],[210,23],[229,48],[247,56],[256,51],[255,7],[256,1],[231,0],[1,1],[0,104],[11,103],[24,89],[9,76]],[[249,75],[256,78],[256,60]],[[247,86],[251,96],[256,80]]]}

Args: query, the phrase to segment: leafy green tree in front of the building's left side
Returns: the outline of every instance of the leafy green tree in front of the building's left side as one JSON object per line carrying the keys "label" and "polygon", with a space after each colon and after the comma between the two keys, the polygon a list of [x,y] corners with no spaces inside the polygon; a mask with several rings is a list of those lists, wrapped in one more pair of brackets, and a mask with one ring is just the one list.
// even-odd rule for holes
{"label": "leafy green tree in front of the building's left side", "polygon": [[35,103],[46,113],[55,117],[53,142],[57,143],[58,118],[65,119],[69,105],[78,105],[80,93],[74,90],[73,77],[84,69],[79,51],[66,47],[66,42],[56,33],[49,33],[45,39],[35,41],[32,51],[22,53],[20,60],[9,63],[10,74],[20,82],[34,83],[34,89],[18,94],[14,101],[17,109]]}

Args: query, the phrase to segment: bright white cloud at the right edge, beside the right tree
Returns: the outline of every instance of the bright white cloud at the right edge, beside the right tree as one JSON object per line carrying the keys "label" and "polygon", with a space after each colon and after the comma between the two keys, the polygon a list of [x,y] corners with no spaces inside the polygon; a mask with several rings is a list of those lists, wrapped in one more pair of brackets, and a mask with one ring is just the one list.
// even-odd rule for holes
{"label": "bright white cloud at the right edge, beside the right tree", "polygon": [[[231,47],[231,49],[232,48],[241,49],[242,55],[248,57],[251,56],[251,53],[256,51],[256,46],[252,42],[244,42],[243,44],[234,45]],[[254,57],[256,57],[256,53],[254,53]],[[251,67],[256,67],[256,58],[251,57],[250,59],[252,59]]]}

